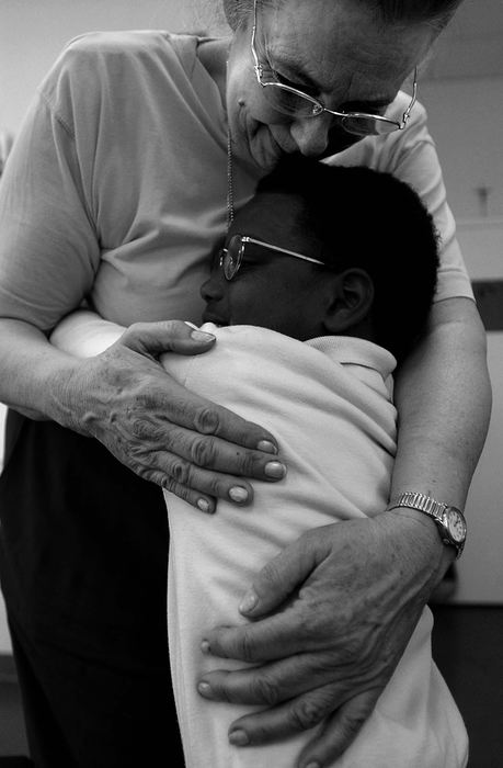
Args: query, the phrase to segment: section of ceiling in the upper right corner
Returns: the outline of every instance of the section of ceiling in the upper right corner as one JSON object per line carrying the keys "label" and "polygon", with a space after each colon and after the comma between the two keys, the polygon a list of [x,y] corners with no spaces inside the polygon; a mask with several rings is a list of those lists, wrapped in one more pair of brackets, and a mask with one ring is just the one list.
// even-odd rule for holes
{"label": "section of ceiling in the upper right corner", "polygon": [[503,0],[465,0],[441,35],[425,77],[438,80],[501,76]]}

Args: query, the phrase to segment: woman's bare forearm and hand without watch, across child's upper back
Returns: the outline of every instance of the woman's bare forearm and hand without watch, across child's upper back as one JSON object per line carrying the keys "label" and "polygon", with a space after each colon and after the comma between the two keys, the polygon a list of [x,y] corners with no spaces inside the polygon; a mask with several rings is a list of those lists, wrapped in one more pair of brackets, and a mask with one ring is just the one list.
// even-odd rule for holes
{"label": "woman's bare forearm and hand without watch, across child's upper back", "polygon": [[[27,416],[42,414],[100,440],[141,477],[203,511],[232,500],[245,478],[278,479],[274,438],[261,427],[205,400],[169,376],[167,351],[201,354],[215,338],[185,323],[137,324],[95,358],[57,350],[33,325],[0,318],[0,402]],[[272,468],[272,472],[271,472]]]}

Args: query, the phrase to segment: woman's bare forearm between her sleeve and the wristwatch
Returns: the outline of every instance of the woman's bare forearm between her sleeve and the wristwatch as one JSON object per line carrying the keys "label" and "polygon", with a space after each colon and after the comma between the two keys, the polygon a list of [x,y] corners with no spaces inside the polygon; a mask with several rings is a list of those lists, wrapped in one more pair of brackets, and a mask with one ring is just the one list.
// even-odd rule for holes
{"label": "woman's bare forearm between her sleeve and the wristwatch", "polygon": [[[485,334],[476,305],[451,298],[434,305],[428,332],[397,376],[399,439],[391,499],[405,490],[465,508],[491,411]],[[400,510],[430,527],[432,547],[443,547],[433,521]]]}

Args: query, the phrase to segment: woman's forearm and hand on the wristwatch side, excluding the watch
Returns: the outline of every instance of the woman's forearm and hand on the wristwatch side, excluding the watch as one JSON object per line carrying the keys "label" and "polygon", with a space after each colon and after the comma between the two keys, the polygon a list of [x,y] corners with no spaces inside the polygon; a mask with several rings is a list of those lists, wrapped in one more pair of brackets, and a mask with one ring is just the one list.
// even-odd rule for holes
{"label": "woman's forearm and hand on the wristwatch side, excluding the watch", "polygon": [[[421,490],[462,507],[491,403],[473,302],[434,306],[425,338],[400,371],[397,402],[393,495]],[[241,611],[254,623],[205,639],[217,656],[261,665],[199,681],[207,698],[271,708],[232,723],[232,743],[276,741],[327,718],[298,766],[324,766],[342,754],[453,557],[435,523],[410,509],[315,529],[286,547],[243,599]],[[267,617],[286,598],[288,608]]]}

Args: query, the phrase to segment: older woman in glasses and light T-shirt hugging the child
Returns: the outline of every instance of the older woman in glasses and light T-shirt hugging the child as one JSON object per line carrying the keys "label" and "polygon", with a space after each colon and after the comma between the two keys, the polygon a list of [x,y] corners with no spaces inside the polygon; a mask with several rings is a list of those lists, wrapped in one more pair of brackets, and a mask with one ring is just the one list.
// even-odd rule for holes
{"label": "older woman in glasses and light T-shirt hugging the child", "polygon": [[[230,741],[277,741],[324,720],[298,765],[333,763],[460,553],[449,510],[465,504],[485,434],[484,340],[414,105],[416,67],[457,4],[228,0],[229,39],[85,35],[42,84],[0,202],[0,399],[33,417],[10,422],[2,587],[37,766],[181,759],[165,738],[156,484],[213,511],[218,498],[250,502],[253,478],[285,467],[274,436],[167,375],[161,352],[197,354],[214,339],[160,320],[201,319],[208,246],[283,153],[408,181],[443,253],[427,334],[397,379],[393,508],[302,535],[256,575],[241,606],[253,623],[204,639],[217,656],[258,663],[199,680],[206,697],[268,705],[230,724]],[[77,361],[47,334],[84,298],[142,324]]]}

